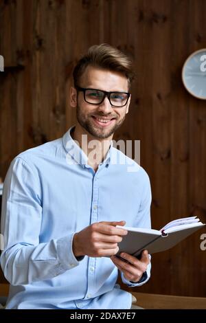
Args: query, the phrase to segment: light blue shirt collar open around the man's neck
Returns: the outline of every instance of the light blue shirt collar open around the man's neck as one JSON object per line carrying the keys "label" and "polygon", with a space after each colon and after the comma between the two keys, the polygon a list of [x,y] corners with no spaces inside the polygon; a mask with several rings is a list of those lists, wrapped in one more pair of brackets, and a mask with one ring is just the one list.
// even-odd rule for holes
{"label": "light blue shirt collar open around the man's neck", "polygon": [[[67,161],[69,161],[69,164],[71,164],[72,162],[72,164],[80,164],[82,167],[85,167],[87,165],[88,157],[84,153],[84,151],[82,151],[82,148],[80,148],[78,142],[73,140],[73,138],[71,137],[71,131],[73,131],[74,128],[75,126],[71,126],[71,128],[69,128],[69,130],[62,137],[62,142],[65,147],[65,151],[67,151]],[[108,165],[111,162],[112,148],[113,141],[111,140],[111,144],[106,154],[106,157],[104,158],[104,161],[100,163],[100,166],[104,165],[108,167]]]}

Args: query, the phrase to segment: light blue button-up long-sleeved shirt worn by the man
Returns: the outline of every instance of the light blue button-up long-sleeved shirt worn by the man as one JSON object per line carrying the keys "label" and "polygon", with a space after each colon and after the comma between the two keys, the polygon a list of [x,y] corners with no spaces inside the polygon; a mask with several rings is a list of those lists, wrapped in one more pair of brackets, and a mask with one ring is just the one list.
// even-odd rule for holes
{"label": "light blue button-up long-sleeved shirt worn by the man", "polygon": [[[73,234],[99,221],[150,227],[150,181],[112,142],[95,172],[71,138],[72,128],[19,154],[5,177],[1,267],[11,284],[7,309],[130,309],[131,294],[116,285],[111,259],[76,259]],[[150,265],[144,277],[139,284],[122,280],[144,284]]]}

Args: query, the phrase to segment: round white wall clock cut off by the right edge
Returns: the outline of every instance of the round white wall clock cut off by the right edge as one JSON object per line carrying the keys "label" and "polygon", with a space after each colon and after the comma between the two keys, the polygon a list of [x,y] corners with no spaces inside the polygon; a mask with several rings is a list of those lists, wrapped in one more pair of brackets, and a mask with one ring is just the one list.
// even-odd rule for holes
{"label": "round white wall clock cut off by the right edge", "polygon": [[192,96],[206,100],[206,49],[198,50],[187,58],[182,79]]}

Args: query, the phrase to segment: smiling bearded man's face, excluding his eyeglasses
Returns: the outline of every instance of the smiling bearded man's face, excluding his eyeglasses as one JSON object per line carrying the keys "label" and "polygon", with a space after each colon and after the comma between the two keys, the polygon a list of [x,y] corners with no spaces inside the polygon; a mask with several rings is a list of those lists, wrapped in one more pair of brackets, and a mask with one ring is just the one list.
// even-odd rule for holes
{"label": "smiling bearded man's face, excluding his eyeglasses", "polygon": [[[78,86],[108,92],[128,92],[128,80],[125,76],[91,66],[85,70]],[[76,107],[78,123],[98,139],[110,137],[121,126],[126,113],[128,113],[129,104],[130,98],[126,106],[112,107],[107,97],[101,104],[90,104],[84,101],[82,91],[77,93],[76,89],[71,88],[71,106]]]}

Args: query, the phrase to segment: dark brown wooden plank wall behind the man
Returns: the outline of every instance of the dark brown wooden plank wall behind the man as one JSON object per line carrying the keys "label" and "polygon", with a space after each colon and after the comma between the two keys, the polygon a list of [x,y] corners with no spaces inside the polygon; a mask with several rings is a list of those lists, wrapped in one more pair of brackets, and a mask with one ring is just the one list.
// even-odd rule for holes
{"label": "dark brown wooden plank wall behind the man", "polygon": [[[115,138],[141,140],[152,227],[192,214],[205,221],[206,101],[181,82],[187,56],[206,47],[205,0],[0,1],[0,176],[19,152],[62,136],[75,122],[71,69],[103,42],[135,60],[133,102]],[[152,278],[137,290],[206,296],[203,232],[154,255]]]}

